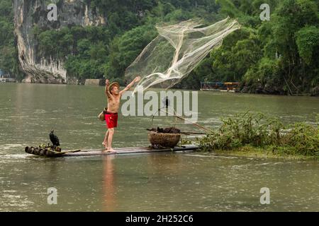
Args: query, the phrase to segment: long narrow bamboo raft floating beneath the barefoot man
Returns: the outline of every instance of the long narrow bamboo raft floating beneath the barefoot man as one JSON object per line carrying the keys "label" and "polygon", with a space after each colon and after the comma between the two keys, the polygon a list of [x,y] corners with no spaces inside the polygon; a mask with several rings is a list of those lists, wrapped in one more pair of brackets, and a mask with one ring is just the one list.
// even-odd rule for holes
{"label": "long narrow bamboo raft floating beneath the barefoot man", "polygon": [[174,148],[153,148],[153,147],[136,147],[136,148],[114,148],[116,153],[102,152],[103,149],[99,150],[65,150],[57,152],[51,149],[41,149],[34,147],[26,147],[26,153],[32,155],[41,155],[46,157],[77,157],[77,156],[99,156],[99,155],[127,155],[127,154],[138,154],[138,153],[162,153],[169,151],[176,152],[190,152],[198,149],[198,145],[181,145]]}

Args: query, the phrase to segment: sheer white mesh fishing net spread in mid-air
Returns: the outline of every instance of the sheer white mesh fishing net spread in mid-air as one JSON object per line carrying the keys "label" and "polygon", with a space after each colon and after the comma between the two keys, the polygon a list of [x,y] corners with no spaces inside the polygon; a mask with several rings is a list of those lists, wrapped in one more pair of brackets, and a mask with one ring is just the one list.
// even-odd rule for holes
{"label": "sheer white mesh fishing net spread in mid-air", "polygon": [[140,86],[145,90],[160,83],[170,88],[187,76],[198,63],[218,47],[223,38],[240,29],[237,20],[225,18],[218,23],[202,27],[199,20],[186,20],[174,25],[157,25],[159,35],[147,44],[140,55],[128,66],[125,77],[139,75]]}

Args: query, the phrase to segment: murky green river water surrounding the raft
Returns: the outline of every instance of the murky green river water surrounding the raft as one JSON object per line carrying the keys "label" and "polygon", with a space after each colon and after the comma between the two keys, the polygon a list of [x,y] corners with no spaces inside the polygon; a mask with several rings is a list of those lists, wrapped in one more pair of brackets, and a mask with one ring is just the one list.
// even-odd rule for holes
{"label": "murky green river water surrounding the raft", "polygon": [[[291,211],[319,210],[319,162],[157,153],[49,159],[24,153],[49,141],[62,148],[101,148],[103,87],[0,84],[0,211]],[[315,121],[319,99],[198,92],[198,123],[264,112],[286,123]],[[171,125],[172,118],[155,124]],[[190,125],[177,124],[183,130]],[[115,147],[148,145],[150,117],[123,117]],[[47,189],[57,189],[57,205]],[[270,189],[270,204],[259,202]]]}

